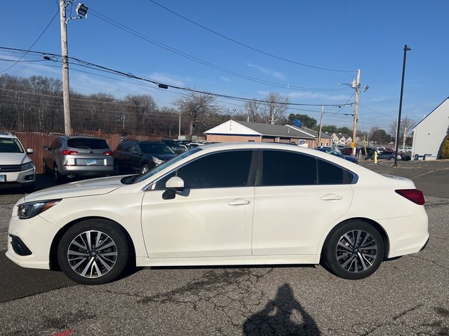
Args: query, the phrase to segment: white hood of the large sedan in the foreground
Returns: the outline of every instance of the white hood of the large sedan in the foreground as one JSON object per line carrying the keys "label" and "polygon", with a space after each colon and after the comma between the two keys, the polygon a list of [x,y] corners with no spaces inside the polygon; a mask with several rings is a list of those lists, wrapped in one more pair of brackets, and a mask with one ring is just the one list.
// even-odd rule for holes
{"label": "white hood of the large sedan in the foreground", "polygon": [[103,195],[123,186],[120,182],[121,179],[123,179],[123,176],[112,176],[62,184],[61,186],[55,186],[29,194],[25,196],[25,202]]}

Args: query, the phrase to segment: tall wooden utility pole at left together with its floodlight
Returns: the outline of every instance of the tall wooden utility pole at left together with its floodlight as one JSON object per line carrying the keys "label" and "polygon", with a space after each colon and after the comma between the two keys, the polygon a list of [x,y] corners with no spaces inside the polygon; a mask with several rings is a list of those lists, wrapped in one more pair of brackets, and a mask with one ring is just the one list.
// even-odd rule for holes
{"label": "tall wooden utility pole at left together with its floodlight", "polygon": [[[66,4],[67,3],[67,4]],[[71,19],[86,19],[87,6],[79,3],[76,7],[75,18],[66,18],[66,8],[72,0],[60,0],[60,17],[61,17],[61,55],[62,55],[62,101],[64,103],[64,132],[70,135],[72,125],[70,122],[70,100],[69,100],[69,57],[67,51],[67,22]]]}

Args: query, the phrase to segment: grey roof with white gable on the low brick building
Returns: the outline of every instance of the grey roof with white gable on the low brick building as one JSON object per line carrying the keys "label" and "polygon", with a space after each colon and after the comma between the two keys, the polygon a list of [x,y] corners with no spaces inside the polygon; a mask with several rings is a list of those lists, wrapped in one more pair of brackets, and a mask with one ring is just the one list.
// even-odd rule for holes
{"label": "grey roof with white gable on the low brick building", "polygon": [[[234,135],[262,135],[268,137],[289,137],[299,139],[315,139],[311,131],[290,125],[271,125],[248,123],[246,121],[229,120],[204,132],[205,134],[234,134]],[[316,132],[315,132],[316,133]]]}

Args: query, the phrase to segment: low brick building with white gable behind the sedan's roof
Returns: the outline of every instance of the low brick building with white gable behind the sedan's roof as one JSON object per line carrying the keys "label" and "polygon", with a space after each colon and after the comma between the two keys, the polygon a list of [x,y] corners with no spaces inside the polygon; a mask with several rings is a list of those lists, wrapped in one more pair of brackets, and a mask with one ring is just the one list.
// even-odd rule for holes
{"label": "low brick building with white gable behind the sedan's roof", "polygon": [[318,134],[302,127],[291,125],[270,125],[228,120],[204,132],[207,141],[212,142],[279,142],[284,144],[307,144],[316,146]]}

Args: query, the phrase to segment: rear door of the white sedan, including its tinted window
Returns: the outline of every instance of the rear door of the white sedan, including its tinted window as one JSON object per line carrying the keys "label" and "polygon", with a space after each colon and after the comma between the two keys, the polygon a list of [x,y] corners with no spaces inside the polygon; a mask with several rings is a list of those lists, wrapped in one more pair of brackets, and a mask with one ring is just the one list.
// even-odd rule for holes
{"label": "rear door of the white sedan, including its tinted window", "polygon": [[293,151],[262,151],[255,187],[253,255],[316,255],[353,191],[348,172]]}

